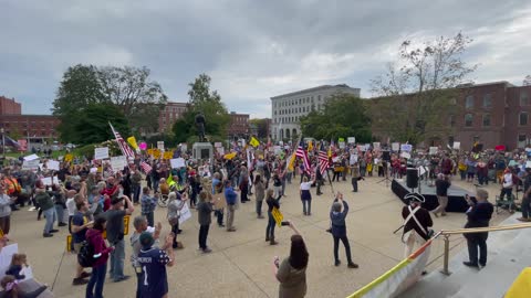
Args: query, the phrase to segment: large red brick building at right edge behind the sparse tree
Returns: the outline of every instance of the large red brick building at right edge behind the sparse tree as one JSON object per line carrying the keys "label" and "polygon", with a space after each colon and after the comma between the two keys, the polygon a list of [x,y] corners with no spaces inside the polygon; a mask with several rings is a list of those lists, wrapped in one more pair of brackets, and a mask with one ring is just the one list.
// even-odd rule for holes
{"label": "large red brick building at right edge behind the sparse tree", "polygon": [[[493,82],[465,85],[459,89],[455,99],[456,113],[441,116],[448,117],[449,129],[433,131],[425,140],[426,146],[446,147],[459,141],[462,150],[470,150],[478,141],[485,148],[504,145],[508,150],[513,150],[531,143],[531,86]],[[373,136],[381,140],[387,138],[374,115]]]}

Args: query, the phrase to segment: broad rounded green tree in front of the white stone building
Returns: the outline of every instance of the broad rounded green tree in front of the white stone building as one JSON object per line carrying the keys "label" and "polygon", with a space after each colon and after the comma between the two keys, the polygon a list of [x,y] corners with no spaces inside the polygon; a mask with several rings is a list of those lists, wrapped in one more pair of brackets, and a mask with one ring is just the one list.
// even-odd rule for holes
{"label": "broad rounded green tree in front of the white stone building", "polygon": [[324,109],[310,111],[301,118],[304,137],[315,139],[337,139],[356,137],[360,141],[371,141],[371,118],[363,100],[352,94],[334,94]]}

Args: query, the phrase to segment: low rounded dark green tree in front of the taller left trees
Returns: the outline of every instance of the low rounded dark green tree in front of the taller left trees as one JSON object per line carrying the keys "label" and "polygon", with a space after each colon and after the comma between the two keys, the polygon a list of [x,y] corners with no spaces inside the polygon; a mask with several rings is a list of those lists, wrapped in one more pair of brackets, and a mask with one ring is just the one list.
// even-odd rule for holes
{"label": "low rounded dark green tree in front of the taller left trees", "polygon": [[124,139],[131,135],[127,119],[122,110],[113,104],[91,104],[84,109],[83,116],[73,126],[76,131],[72,139],[74,143],[85,146],[114,140],[108,123]]}

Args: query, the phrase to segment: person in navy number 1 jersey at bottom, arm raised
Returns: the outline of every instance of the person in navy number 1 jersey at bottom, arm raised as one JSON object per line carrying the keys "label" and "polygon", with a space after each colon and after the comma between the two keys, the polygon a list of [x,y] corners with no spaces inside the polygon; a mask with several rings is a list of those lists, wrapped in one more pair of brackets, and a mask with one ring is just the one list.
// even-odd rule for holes
{"label": "person in navy number 1 jersey at bottom, arm raised", "polygon": [[168,234],[164,245],[165,249],[154,247],[155,240],[148,232],[140,234],[139,243],[142,245],[138,254],[138,264],[142,267],[140,297],[167,298],[168,297],[168,277],[166,266],[174,266],[174,251],[170,245],[174,242],[174,235]]}

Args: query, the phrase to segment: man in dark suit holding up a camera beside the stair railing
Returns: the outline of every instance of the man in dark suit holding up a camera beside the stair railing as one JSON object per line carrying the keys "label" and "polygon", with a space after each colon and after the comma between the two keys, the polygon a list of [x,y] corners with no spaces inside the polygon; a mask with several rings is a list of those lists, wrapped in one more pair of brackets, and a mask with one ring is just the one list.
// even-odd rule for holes
{"label": "man in dark suit holding up a camera beside the stair railing", "polygon": [[[489,193],[486,190],[478,189],[476,192],[476,200],[477,203],[473,203],[471,200],[467,198],[467,202],[470,205],[469,210],[467,211],[467,224],[465,228],[473,228],[473,227],[487,227],[489,226],[489,221],[492,217],[492,212],[494,207],[488,201]],[[468,262],[464,262],[468,267],[476,267],[479,266],[485,267],[487,265],[487,237],[489,236],[488,232],[481,233],[470,233],[465,234],[468,244]],[[478,263],[478,248],[479,248],[479,263]]]}

